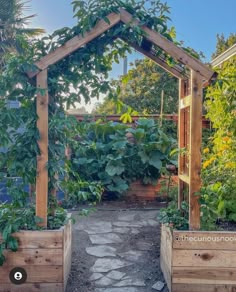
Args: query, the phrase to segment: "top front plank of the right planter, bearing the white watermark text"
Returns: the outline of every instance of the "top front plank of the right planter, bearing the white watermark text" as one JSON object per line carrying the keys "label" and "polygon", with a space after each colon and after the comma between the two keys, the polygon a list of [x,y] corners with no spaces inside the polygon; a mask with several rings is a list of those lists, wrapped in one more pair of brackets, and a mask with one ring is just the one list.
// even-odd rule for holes
{"label": "top front plank of the right planter, bearing the white watermark text", "polygon": [[173,232],[174,249],[216,249],[236,251],[236,233],[227,231]]}

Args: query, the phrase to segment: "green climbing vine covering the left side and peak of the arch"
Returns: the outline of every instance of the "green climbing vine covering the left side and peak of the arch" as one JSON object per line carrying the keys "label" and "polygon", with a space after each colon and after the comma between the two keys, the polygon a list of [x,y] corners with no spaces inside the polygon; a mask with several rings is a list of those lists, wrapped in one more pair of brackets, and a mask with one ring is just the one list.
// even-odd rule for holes
{"label": "green climbing vine covering the left side and peak of the arch", "polygon": [[[57,205],[51,194],[54,189],[62,186],[61,181],[66,181],[65,178],[70,172],[64,167],[64,150],[74,138],[76,133],[74,129],[77,127],[75,119],[67,116],[65,110],[79,103],[82,98],[89,102],[91,98],[99,98],[100,94],[104,93],[116,99],[116,90],[109,83],[108,73],[112,69],[113,62],[119,62],[120,58],[131,51],[129,45],[118,37],[128,37],[130,41],[142,46],[150,46],[142,30],[142,25],[147,25],[175,44],[182,45],[175,40],[174,29],[167,27],[169,20],[167,5],[160,1],[151,1],[149,7],[146,7],[145,2],[142,0],[73,1],[74,14],[78,20],[76,26],[59,29],[41,39],[29,41],[22,38],[20,41],[23,54],[9,53],[4,56],[6,63],[0,73],[0,147],[5,147],[5,151],[0,153],[1,179],[19,176],[24,185],[34,185],[36,157],[40,154],[37,144],[40,135],[36,127],[38,118],[36,97],[39,89],[36,87],[35,79],[30,79],[27,73],[37,69],[34,65],[36,61],[64,45],[74,36],[84,35],[99,20],[108,22],[106,16],[111,12],[119,12],[119,9],[123,8],[140,21],[136,26],[117,24],[75,53],[49,67],[49,217],[54,215],[51,211],[55,210]],[[154,49],[156,54],[162,54],[169,64],[175,63],[160,48]],[[20,102],[19,109],[9,108],[8,103],[12,100]],[[66,187],[66,184],[63,186]],[[15,188],[10,188],[9,191],[14,196]],[[93,189],[93,193],[100,191],[101,188],[95,191]],[[16,206],[19,207],[21,196],[15,198]],[[6,213],[5,209],[9,210],[7,206],[3,208],[3,213]],[[21,212],[19,214],[22,216]],[[64,223],[63,220],[60,222]],[[4,224],[0,225],[0,233],[4,228]],[[22,228],[21,223],[16,228],[11,227],[6,231],[4,245],[0,247],[0,258],[3,249],[9,245],[8,241],[12,240],[10,234],[18,228]],[[13,248],[15,250],[15,245]]]}

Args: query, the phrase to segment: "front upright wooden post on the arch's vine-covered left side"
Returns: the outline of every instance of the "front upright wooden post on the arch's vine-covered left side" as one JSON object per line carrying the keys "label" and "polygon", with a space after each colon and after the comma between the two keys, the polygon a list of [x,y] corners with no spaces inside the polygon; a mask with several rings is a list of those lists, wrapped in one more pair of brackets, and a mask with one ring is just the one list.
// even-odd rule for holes
{"label": "front upright wooden post on the arch's vine-covered left side", "polygon": [[48,85],[47,69],[37,75],[37,128],[40,134],[38,145],[40,156],[37,157],[36,177],[36,216],[43,219],[40,226],[47,227],[48,209]]}

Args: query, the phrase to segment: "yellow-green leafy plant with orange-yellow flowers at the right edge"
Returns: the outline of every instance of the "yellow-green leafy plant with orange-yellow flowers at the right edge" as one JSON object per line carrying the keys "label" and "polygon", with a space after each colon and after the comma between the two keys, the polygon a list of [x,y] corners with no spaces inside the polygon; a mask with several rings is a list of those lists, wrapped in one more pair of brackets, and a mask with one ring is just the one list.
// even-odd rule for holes
{"label": "yellow-green leafy plant with orange-yellow flowers at the right edge", "polygon": [[236,222],[235,64],[234,57],[218,69],[218,79],[206,95],[207,117],[214,132],[203,149],[201,199],[205,228],[212,228],[218,219]]}

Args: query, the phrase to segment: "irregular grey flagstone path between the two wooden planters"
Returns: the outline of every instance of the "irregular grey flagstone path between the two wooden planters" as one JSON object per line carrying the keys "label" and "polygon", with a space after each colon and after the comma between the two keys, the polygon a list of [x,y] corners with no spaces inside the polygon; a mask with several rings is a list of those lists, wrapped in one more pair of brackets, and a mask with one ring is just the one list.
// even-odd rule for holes
{"label": "irregular grey flagstone path between the two wooden planters", "polygon": [[67,292],[157,291],[153,285],[164,282],[157,215],[158,210],[98,210],[80,217]]}

